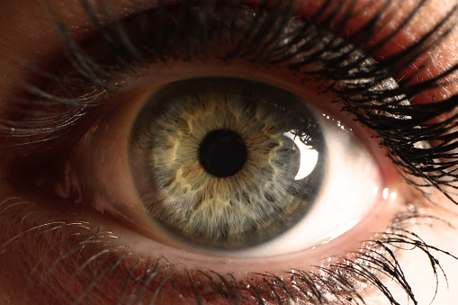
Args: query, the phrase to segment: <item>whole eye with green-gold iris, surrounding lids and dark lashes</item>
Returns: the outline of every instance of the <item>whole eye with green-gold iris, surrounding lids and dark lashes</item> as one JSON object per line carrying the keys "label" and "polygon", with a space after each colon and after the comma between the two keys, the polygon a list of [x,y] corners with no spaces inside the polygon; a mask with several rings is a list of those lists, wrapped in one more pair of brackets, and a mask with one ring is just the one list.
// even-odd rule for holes
{"label": "whole eye with green-gold iris, surrounding lids and dark lashes", "polygon": [[371,279],[390,274],[379,264],[401,250],[375,232],[403,223],[396,214],[416,192],[385,155],[405,156],[379,147],[396,139],[390,122],[411,119],[396,68],[292,16],[290,3],[160,3],[122,16],[82,4],[95,35],[76,42],[56,18],[66,57],[54,74],[34,68],[40,80],[8,126],[23,136],[9,139],[23,153],[8,155],[8,179],[24,201],[48,202],[44,218],[66,219],[46,233],[65,236],[46,235],[52,247],[37,255],[60,253],[39,259],[51,280],[33,289],[84,262],[66,281],[85,287],[76,302],[111,273],[106,300],[118,302],[292,300],[298,289],[333,302],[359,295],[350,280],[385,293]]}

